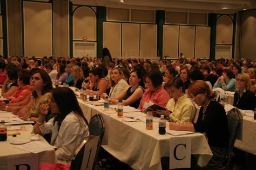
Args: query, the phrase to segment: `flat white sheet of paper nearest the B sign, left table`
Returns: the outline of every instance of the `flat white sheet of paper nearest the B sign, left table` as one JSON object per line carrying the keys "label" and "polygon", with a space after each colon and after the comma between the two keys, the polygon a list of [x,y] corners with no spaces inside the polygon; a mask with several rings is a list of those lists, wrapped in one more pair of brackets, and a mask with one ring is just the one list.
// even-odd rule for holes
{"label": "flat white sheet of paper nearest the B sign, left table", "polygon": [[29,151],[32,152],[34,154],[42,152],[42,151],[47,151],[49,149],[54,149],[57,148],[55,146],[40,142],[40,141],[34,141],[34,142],[29,142],[27,144],[24,145],[17,145],[14,146],[14,148],[18,148],[24,151]]}

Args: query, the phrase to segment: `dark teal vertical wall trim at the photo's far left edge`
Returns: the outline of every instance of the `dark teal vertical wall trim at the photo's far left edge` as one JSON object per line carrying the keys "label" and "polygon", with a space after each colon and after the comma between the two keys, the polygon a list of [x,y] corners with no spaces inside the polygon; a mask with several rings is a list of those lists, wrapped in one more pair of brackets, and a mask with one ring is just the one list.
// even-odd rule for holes
{"label": "dark teal vertical wall trim at the photo's far left edge", "polygon": [[1,14],[2,14],[2,30],[3,30],[3,50],[4,56],[8,56],[8,43],[7,43],[7,11],[6,0],[1,0]]}

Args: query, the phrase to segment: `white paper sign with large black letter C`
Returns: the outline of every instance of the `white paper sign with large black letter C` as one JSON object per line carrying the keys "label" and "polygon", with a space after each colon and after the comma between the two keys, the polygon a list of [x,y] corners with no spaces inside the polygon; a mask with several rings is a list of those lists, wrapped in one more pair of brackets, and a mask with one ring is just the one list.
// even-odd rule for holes
{"label": "white paper sign with large black letter C", "polygon": [[190,168],[191,137],[170,138],[169,169]]}

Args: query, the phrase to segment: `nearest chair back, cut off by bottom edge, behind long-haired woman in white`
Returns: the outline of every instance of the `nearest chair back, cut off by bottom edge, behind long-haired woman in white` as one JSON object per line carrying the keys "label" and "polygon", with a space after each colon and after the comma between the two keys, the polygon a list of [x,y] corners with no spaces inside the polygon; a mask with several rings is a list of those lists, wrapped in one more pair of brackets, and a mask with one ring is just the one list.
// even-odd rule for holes
{"label": "nearest chair back, cut off by bottom edge, behind long-haired woman in white", "polygon": [[99,136],[86,137],[74,153],[70,170],[93,170],[99,142]]}

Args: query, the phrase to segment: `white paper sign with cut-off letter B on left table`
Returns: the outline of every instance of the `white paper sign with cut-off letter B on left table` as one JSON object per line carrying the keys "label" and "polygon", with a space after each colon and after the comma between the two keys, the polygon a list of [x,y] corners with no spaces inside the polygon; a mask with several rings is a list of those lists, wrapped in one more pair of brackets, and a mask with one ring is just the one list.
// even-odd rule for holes
{"label": "white paper sign with cut-off letter B on left table", "polygon": [[7,158],[7,170],[37,170],[38,154]]}

